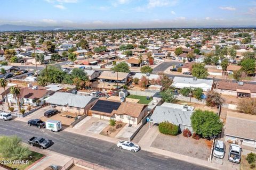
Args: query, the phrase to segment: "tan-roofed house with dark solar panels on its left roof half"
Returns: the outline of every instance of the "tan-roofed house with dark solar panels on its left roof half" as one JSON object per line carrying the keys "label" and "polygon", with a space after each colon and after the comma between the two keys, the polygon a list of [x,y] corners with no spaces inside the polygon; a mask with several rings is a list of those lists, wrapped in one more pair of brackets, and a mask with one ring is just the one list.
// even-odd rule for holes
{"label": "tan-roofed house with dark solar panels on its left roof half", "polygon": [[148,113],[148,106],[109,99],[99,99],[88,111],[88,115],[105,120],[114,119],[137,125]]}

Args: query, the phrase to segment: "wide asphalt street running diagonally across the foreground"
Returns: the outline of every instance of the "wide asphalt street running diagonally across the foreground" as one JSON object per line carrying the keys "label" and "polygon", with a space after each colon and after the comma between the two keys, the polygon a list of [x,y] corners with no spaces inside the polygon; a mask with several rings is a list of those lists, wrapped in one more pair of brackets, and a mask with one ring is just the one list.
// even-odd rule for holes
{"label": "wide asphalt street running diagonally across the foreground", "polygon": [[23,142],[27,142],[33,136],[41,136],[52,141],[52,146],[48,148],[51,151],[83,159],[110,169],[207,169],[143,150],[132,153],[117,148],[113,143],[83,135],[65,131],[51,132],[50,130],[38,129],[34,126],[29,127],[27,123],[20,121],[1,121],[0,135],[18,135],[18,137],[22,138]]}

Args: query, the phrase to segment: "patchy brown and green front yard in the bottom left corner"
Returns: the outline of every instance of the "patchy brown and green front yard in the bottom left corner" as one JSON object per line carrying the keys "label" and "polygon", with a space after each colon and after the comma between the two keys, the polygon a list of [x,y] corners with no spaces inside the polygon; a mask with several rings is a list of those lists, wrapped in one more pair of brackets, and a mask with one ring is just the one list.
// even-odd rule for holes
{"label": "patchy brown and green front yard in the bottom left corner", "polygon": [[[31,154],[31,156],[32,156],[31,159],[32,160],[30,158],[28,158],[26,160],[19,160],[20,162],[17,162],[18,160],[12,160],[12,162],[10,162],[10,158],[3,158],[3,157],[0,156],[0,162],[3,165],[9,166],[11,168],[23,170],[23,169],[26,169],[29,165],[36,162],[38,159],[40,159],[44,156],[44,155],[39,154],[39,153],[34,152],[34,151],[31,151],[31,152],[32,152],[32,154]],[[26,161],[28,161],[28,163]]]}

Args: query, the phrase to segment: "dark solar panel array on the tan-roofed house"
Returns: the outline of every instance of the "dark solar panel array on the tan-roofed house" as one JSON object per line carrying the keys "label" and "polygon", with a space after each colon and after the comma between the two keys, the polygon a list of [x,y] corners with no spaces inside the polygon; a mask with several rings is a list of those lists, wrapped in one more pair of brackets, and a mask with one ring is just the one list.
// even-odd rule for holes
{"label": "dark solar panel array on the tan-roofed house", "polygon": [[91,108],[91,111],[112,113],[113,110],[117,110],[121,103],[115,101],[98,100]]}

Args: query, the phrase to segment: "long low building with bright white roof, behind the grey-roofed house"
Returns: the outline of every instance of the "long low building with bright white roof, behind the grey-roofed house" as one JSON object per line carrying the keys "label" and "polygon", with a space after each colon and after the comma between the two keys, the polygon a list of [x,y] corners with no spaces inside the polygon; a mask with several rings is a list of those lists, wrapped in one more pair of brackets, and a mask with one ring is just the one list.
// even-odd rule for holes
{"label": "long low building with bright white roof, behind the grey-roofed house", "polygon": [[203,91],[210,91],[213,87],[213,80],[174,77],[172,86],[177,89],[187,88],[202,88]]}

